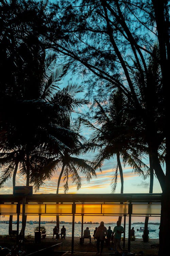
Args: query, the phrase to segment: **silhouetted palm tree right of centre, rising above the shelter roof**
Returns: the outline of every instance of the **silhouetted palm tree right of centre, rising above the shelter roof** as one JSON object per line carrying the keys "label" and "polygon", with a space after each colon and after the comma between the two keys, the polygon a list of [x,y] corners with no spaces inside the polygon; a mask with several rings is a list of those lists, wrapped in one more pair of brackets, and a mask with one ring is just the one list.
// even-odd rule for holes
{"label": "silhouetted palm tree right of centre, rising above the shelter roof", "polygon": [[121,166],[120,156],[123,164],[129,164],[133,171],[145,177],[144,171],[148,170],[148,166],[140,160],[137,143],[134,141],[132,134],[135,133],[135,128],[132,126],[136,121],[131,119],[125,111],[127,108],[127,101],[124,96],[117,91],[109,99],[107,106],[102,106],[96,101],[96,114],[93,117],[93,125],[85,119],[82,121],[85,125],[94,129],[89,142],[87,144],[88,150],[98,150],[99,153],[95,158],[97,162],[95,168],[100,168],[103,161],[110,159],[114,155],[117,157],[117,166],[112,179],[112,192],[115,191],[117,185],[118,170],[121,179],[121,193],[123,193],[123,171]]}

